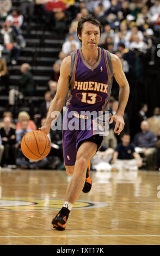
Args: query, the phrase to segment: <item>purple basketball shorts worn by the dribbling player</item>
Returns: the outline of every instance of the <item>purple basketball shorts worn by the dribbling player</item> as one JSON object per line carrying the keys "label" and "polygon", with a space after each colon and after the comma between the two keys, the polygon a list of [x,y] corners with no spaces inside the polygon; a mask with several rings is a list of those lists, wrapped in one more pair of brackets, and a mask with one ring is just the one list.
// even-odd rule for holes
{"label": "purple basketball shorts worn by the dribbling player", "polygon": [[[66,166],[74,166],[79,146],[83,141],[93,141],[97,144],[97,150],[101,147],[104,136],[102,130],[95,130],[95,120],[85,119],[86,116],[77,114],[69,117],[69,109],[63,118],[63,155]],[[100,136],[101,134],[101,136]]]}

